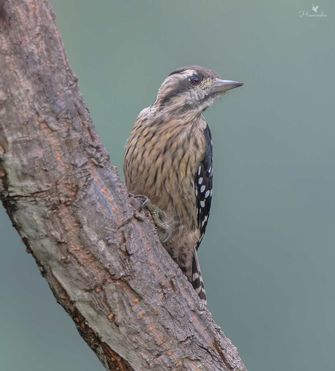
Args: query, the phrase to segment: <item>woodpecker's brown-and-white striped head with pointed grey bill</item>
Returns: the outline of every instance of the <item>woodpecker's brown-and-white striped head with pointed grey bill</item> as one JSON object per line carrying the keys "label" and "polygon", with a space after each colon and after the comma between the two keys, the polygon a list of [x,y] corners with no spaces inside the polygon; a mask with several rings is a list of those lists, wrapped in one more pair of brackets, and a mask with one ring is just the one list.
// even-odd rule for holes
{"label": "woodpecker's brown-and-white striped head with pointed grey bill", "polygon": [[161,109],[200,114],[227,90],[241,85],[242,82],[221,80],[217,73],[201,66],[182,67],[164,80],[154,104]]}

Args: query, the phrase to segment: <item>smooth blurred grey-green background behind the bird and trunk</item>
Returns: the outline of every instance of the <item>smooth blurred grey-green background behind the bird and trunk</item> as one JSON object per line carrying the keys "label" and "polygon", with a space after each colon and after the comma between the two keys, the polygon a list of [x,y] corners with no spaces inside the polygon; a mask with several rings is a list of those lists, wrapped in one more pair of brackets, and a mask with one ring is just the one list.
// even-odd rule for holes
{"label": "smooth blurred grey-green background behind the bird and trunk", "polygon": [[[208,309],[249,371],[335,370],[335,3],[52,0],[93,122],[123,146],[186,65],[244,82],[205,112]],[[121,174],[120,174],[121,175]],[[121,175],[122,176],[122,175]],[[0,210],[0,369],[104,370]]]}

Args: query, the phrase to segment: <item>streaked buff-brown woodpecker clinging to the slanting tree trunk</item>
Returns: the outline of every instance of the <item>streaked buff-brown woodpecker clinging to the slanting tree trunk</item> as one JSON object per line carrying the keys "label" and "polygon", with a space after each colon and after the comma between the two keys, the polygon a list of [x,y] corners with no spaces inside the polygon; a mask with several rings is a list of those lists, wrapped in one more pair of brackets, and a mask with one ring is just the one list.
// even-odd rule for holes
{"label": "streaked buff-brown woodpecker clinging to the slanting tree trunk", "polygon": [[164,80],[155,102],[140,112],[124,152],[127,189],[146,196],[144,204],[163,246],[205,305],[196,252],[211,207],[213,151],[202,112],[241,85],[201,66],[176,69]]}

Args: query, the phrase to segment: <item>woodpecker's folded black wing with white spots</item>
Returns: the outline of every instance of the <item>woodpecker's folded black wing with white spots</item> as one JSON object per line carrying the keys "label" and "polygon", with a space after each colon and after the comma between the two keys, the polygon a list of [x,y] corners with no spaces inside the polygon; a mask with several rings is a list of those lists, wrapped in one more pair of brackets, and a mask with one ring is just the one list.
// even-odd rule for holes
{"label": "woodpecker's folded black wing with white spots", "polygon": [[207,125],[205,129],[206,151],[202,159],[199,169],[195,175],[195,197],[198,214],[198,228],[201,236],[197,243],[196,250],[204,237],[206,225],[209,216],[209,209],[211,208],[212,200],[212,162],[213,162],[213,147],[212,135]]}

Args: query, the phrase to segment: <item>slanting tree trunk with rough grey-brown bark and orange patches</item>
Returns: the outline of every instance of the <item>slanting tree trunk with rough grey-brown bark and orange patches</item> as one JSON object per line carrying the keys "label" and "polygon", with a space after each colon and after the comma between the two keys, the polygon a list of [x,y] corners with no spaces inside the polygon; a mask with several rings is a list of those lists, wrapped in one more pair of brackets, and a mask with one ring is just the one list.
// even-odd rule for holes
{"label": "slanting tree trunk with rough grey-brown bark and orange patches", "polygon": [[110,163],[50,5],[0,12],[1,201],[80,335],[106,370],[246,371]]}

